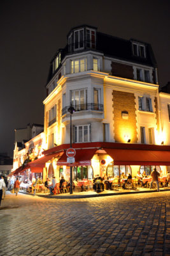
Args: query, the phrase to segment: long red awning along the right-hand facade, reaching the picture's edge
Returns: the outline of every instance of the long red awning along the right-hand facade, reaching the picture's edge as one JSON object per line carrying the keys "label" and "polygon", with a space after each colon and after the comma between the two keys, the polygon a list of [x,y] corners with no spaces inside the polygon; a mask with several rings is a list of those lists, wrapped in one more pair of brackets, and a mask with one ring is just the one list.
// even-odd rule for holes
{"label": "long red awning along the right-hand facade, reaching the picture's edge", "polygon": [[132,150],[104,148],[114,160],[115,165],[166,165],[170,166],[170,151]]}

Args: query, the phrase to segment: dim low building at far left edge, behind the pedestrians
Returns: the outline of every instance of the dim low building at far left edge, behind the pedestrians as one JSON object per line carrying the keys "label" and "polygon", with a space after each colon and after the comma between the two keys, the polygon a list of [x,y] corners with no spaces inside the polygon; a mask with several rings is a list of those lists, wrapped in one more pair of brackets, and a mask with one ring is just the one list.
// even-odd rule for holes
{"label": "dim low building at far left edge, behind the pedestrians", "polygon": [[9,175],[11,172],[13,159],[7,153],[0,153],[0,174],[4,176]]}

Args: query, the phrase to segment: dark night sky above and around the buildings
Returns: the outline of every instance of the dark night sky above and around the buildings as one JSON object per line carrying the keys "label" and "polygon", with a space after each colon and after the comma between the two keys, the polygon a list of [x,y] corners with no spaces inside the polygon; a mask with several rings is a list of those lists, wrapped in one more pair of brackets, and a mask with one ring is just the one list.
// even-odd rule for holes
{"label": "dark night sky above and around the buildings", "polygon": [[159,83],[170,81],[169,0],[1,0],[0,152],[13,156],[16,128],[43,124],[50,60],[81,24],[152,45]]}

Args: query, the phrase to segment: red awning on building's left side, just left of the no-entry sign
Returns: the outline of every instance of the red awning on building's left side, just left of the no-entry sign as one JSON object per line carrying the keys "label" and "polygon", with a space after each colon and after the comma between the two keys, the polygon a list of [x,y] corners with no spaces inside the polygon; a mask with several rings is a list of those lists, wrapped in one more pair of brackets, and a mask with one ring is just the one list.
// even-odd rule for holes
{"label": "red awning on building's left side, just left of the no-entry sign", "polygon": [[64,152],[53,153],[53,154],[50,154],[48,156],[43,156],[43,157],[41,157],[39,159],[36,159],[36,160],[32,161],[31,163],[29,163],[29,166],[30,166],[31,170],[34,167],[36,167],[36,168],[43,168],[43,167],[45,167],[45,163],[46,162],[51,160],[53,157],[60,157],[60,156],[62,156],[63,153]]}

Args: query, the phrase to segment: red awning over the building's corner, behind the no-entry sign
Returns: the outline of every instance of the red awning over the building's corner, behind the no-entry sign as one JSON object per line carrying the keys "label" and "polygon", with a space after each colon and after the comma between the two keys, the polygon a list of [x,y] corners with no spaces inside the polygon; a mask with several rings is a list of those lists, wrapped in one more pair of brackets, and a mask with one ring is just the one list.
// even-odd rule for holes
{"label": "red awning over the building's corner, behind the no-entry sign", "polygon": [[82,166],[82,165],[91,165],[91,159],[96,153],[96,148],[88,148],[88,149],[76,149],[75,163],[70,164],[67,163],[66,152],[60,157],[59,161],[57,161],[57,165],[66,165],[66,166]]}

